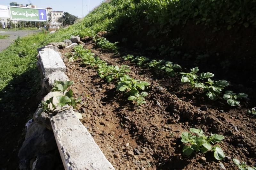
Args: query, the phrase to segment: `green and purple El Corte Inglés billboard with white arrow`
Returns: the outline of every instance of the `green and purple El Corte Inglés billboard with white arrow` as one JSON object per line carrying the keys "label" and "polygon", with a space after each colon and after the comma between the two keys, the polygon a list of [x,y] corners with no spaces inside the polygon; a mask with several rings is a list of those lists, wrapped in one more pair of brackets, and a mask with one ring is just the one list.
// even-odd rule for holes
{"label": "green and purple El Corte Ingl\u00e9s billboard with white arrow", "polygon": [[46,9],[42,8],[25,8],[10,6],[10,15],[12,20],[47,21]]}

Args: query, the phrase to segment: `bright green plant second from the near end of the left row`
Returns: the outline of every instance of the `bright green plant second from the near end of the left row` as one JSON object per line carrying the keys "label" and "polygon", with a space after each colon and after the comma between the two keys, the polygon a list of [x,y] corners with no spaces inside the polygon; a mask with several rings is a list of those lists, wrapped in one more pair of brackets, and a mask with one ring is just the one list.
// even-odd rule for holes
{"label": "bright green plant second from the near end of the left row", "polygon": [[126,91],[130,96],[134,96],[136,93],[139,93],[139,90],[145,90],[145,87],[148,85],[149,83],[146,81],[139,81],[131,78],[129,75],[124,75],[117,82],[116,91]]}

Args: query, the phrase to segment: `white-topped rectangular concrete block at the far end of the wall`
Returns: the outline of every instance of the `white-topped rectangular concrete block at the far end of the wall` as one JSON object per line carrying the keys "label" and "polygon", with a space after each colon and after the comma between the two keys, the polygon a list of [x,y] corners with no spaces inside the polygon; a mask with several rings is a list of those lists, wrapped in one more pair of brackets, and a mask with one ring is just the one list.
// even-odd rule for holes
{"label": "white-topped rectangular concrete block at the far end of the wall", "polygon": [[43,51],[39,51],[38,62],[41,64],[44,77],[57,70],[66,72],[66,66],[58,52],[49,48],[44,48],[42,50]]}

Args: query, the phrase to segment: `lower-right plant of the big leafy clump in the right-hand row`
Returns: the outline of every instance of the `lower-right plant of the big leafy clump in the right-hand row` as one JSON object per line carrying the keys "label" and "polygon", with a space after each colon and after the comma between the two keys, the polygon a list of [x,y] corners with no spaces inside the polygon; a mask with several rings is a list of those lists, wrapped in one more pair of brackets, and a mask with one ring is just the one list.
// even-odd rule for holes
{"label": "lower-right plant of the big leafy clump in the right-hand row", "polygon": [[[204,73],[204,74],[206,74],[206,73]],[[211,100],[216,100],[217,97],[220,95],[220,92],[222,91],[222,89],[227,87],[228,85],[229,85],[229,83],[226,80],[219,80],[219,81],[214,82],[210,78],[208,78],[208,82],[205,82],[205,84],[204,83],[195,83],[195,87],[203,88],[204,92],[206,92],[206,96]]]}

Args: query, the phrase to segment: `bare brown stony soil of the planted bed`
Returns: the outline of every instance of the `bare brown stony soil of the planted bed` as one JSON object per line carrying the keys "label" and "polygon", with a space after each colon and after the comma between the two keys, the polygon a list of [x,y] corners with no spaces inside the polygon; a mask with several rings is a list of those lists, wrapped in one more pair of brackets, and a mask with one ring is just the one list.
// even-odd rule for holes
{"label": "bare brown stony soil of the planted bed", "polygon": [[[75,81],[72,90],[86,98],[79,110],[84,117],[81,122],[116,169],[219,169],[220,162],[227,169],[237,169],[232,158],[255,166],[255,117],[246,114],[246,103],[230,108],[225,101],[208,101],[200,91],[181,84],[179,78],[156,75],[93,45],[90,41],[85,48],[109,65],[129,65],[132,78],[151,84],[147,104],[136,107],[116,92],[115,82],[100,78],[96,68],[81,64],[79,59],[66,63],[67,75]],[[202,106],[207,109],[200,110]],[[217,161],[212,152],[183,156],[180,135],[189,128],[201,128],[206,135],[224,135],[220,146],[227,157]],[[201,162],[201,157],[206,161]]]}

